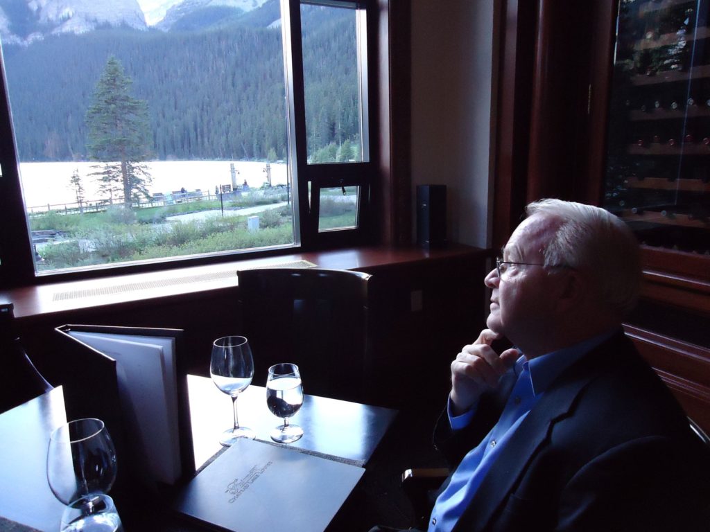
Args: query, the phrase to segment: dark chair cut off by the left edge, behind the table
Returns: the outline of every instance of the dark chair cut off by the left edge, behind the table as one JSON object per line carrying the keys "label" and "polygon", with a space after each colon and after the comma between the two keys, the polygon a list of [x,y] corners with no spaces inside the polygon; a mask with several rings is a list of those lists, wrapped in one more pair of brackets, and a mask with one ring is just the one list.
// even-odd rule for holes
{"label": "dark chair cut off by the left edge, behind the table", "polygon": [[28,357],[15,332],[12,303],[0,304],[0,411],[52,389]]}

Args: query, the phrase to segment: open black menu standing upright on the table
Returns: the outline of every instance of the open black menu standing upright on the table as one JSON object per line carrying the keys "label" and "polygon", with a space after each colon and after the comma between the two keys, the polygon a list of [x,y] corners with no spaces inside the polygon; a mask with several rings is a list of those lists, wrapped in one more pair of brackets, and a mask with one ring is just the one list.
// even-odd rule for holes
{"label": "open black menu standing upright on the table", "polygon": [[[111,497],[116,500],[121,519],[126,515],[126,521],[129,521],[132,509],[152,500],[153,494],[146,497],[146,490],[159,494],[161,501],[168,504],[178,487],[190,480],[195,472],[183,331],[96,325],[64,325],[55,328],[55,331],[59,333],[55,348],[66,367],[70,368],[60,382],[64,390],[67,419],[102,419],[116,445],[119,471]],[[89,340],[89,337],[93,339]],[[109,345],[103,343],[111,339],[114,345],[107,349]],[[143,357],[145,360],[141,361]],[[168,359],[171,359],[170,363]],[[134,366],[131,371],[127,367],[129,364]],[[160,370],[149,372],[148,368],[153,367]],[[144,382],[138,383],[132,378],[136,371],[145,374]],[[131,394],[129,389],[137,393]],[[150,399],[148,395],[143,395],[146,389],[153,393]],[[125,401],[126,397],[130,397],[133,403]],[[158,406],[155,397],[163,400],[165,408],[162,417],[165,419],[155,419],[154,424],[156,428],[168,425],[170,430],[160,436],[164,437],[163,440],[168,438],[170,444],[151,447],[151,443],[163,440],[155,438],[155,431],[143,431],[146,416],[143,416],[141,428],[141,419],[138,419],[136,412],[153,412],[153,407]],[[148,405],[141,401],[146,401]],[[148,419],[148,422],[151,420]],[[158,470],[163,471],[162,477],[155,475]],[[139,516],[140,511],[135,513]]]}

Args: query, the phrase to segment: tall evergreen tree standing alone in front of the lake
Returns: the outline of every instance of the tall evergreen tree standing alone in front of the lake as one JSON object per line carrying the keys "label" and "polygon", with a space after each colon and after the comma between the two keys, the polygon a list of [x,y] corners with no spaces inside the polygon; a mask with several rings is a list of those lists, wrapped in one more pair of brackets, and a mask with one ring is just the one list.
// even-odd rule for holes
{"label": "tall evergreen tree standing alone in front of the lake", "polygon": [[[151,153],[152,143],[146,101],[131,96],[133,80],[124,73],[121,62],[111,56],[99,78],[92,104],[87,111],[89,134],[87,149],[93,160],[107,162],[101,180],[113,203],[114,182],[120,172],[124,203],[131,208],[139,194],[150,197],[146,185],[151,176],[141,164]],[[104,189],[105,190],[105,189]]]}

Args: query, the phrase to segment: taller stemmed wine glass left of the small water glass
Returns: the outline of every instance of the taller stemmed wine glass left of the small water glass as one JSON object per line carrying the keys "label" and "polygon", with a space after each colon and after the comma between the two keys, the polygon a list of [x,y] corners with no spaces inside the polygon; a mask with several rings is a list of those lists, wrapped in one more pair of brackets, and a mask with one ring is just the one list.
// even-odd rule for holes
{"label": "taller stemmed wine glass left of the small water glass", "polygon": [[254,361],[251,357],[249,340],[244,336],[224,336],[214,340],[209,375],[212,376],[214,385],[231,397],[234,410],[234,427],[222,433],[219,443],[229,447],[239,438],[253,440],[256,436],[254,431],[239,426],[239,416],[236,414],[236,398],[251,384],[254,376]]}

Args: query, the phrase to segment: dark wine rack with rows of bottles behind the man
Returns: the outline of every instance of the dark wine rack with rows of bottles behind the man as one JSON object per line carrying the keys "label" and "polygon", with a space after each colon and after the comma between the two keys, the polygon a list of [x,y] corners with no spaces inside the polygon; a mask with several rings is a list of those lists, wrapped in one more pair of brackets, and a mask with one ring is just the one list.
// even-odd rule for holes
{"label": "dark wine rack with rows of bottles behind the man", "polygon": [[621,0],[604,206],[642,243],[710,255],[710,0]]}

